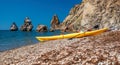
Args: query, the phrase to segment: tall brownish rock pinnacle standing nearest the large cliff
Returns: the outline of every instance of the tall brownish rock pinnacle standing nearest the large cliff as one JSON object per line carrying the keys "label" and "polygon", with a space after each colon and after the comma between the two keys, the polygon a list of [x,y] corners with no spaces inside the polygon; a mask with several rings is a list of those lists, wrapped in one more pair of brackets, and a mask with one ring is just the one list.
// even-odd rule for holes
{"label": "tall brownish rock pinnacle standing nearest the large cliff", "polygon": [[58,19],[58,16],[54,15],[53,18],[52,18],[52,20],[51,20],[50,31],[59,30],[59,24],[60,24],[60,21]]}

